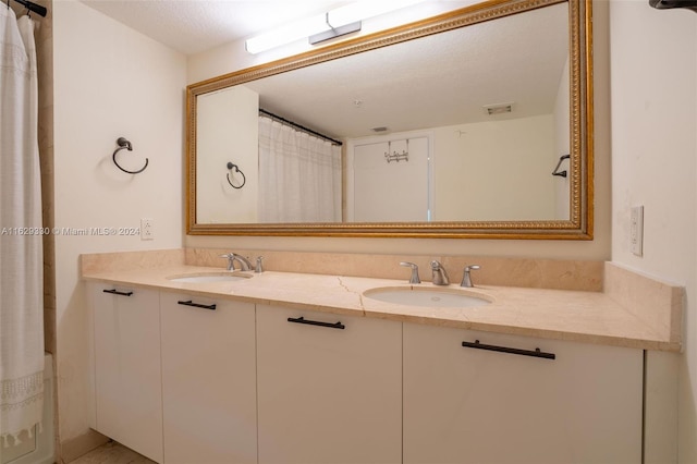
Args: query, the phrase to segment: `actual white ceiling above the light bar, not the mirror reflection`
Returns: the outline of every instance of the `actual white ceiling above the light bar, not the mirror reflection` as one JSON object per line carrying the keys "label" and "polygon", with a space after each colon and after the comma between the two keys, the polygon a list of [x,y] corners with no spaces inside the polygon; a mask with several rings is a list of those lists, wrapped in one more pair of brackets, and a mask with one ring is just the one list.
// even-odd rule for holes
{"label": "actual white ceiling above the light bar, not the mirror reflection", "polygon": [[322,14],[342,0],[81,0],[184,54]]}

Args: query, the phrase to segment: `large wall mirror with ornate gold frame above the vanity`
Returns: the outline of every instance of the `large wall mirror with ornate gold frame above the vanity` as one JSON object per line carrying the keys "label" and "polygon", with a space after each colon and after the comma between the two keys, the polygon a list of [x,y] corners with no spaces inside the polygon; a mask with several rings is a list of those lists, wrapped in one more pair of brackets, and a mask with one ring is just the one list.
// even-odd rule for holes
{"label": "large wall mirror with ornate gold frame above the vanity", "polygon": [[187,233],[592,239],[590,0],[490,0],[187,88]]}

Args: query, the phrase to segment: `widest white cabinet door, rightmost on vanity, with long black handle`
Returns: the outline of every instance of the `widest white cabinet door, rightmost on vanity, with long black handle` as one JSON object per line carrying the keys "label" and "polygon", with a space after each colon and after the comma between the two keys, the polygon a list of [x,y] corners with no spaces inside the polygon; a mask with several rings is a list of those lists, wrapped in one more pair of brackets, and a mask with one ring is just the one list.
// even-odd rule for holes
{"label": "widest white cabinet door, rightmost on vanity, with long black handle", "polygon": [[404,462],[639,463],[641,366],[639,350],[405,323]]}

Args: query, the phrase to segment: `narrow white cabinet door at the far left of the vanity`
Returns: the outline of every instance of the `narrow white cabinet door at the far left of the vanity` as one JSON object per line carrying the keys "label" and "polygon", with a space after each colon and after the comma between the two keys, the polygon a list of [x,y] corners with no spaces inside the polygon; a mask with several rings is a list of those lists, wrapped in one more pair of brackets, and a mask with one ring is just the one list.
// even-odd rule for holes
{"label": "narrow white cabinet door at the far left of the vanity", "polygon": [[[113,292],[113,293],[106,293]],[[157,292],[93,284],[96,429],[162,462]]]}

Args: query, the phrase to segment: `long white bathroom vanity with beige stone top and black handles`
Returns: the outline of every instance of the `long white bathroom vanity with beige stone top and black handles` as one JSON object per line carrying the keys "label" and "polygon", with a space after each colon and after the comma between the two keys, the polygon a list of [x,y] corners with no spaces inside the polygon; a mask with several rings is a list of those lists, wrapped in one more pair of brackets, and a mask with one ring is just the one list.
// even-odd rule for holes
{"label": "long white bathroom vanity with beige stone top and black handles", "polygon": [[167,464],[638,463],[645,351],[680,350],[607,292],[85,268],[94,428]]}

